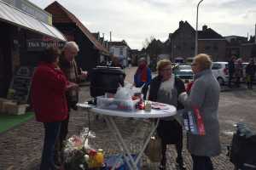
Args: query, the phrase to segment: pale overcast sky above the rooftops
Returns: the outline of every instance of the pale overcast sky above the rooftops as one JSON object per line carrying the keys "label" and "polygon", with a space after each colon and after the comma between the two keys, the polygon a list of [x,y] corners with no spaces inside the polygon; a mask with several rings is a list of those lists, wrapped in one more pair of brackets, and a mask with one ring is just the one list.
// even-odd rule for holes
{"label": "pale overcast sky above the rooftops", "polygon": [[[46,8],[53,0],[30,0]],[[130,48],[143,48],[151,36],[165,42],[177,30],[180,20],[196,29],[196,8],[200,0],[58,0],[90,32],[104,33],[105,40],[125,39]],[[198,30],[207,25],[221,36],[255,35],[256,0],[204,0],[199,7]]]}

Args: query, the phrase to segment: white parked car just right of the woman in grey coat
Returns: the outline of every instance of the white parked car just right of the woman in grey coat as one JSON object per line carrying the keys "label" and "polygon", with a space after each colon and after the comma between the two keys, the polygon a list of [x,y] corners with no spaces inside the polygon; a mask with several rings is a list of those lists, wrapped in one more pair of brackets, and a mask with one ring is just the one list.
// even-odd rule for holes
{"label": "white parked car just right of the woman in grey coat", "polygon": [[[229,82],[229,65],[228,62],[213,62],[212,74],[217,78],[219,85]],[[236,76],[233,77],[232,82],[236,82]]]}

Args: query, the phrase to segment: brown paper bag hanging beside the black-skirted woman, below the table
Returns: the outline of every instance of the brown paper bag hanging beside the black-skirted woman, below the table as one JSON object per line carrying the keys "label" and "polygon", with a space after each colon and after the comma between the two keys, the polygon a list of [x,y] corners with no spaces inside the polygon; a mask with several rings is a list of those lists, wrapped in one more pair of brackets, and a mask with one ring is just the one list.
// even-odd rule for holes
{"label": "brown paper bag hanging beside the black-skirted woman, below the table", "polygon": [[[148,133],[149,133],[148,130],[144,133],[143,143],[145,143],[146,139],[148,138]],[[148,156],[150,161],[153,161],[153,162],[161,161],[162,140],[160,139],[156,131],[153,133],[152,137],[149,139],[148,145],[144,150],[144,153],[146,154],[146,156]]]}

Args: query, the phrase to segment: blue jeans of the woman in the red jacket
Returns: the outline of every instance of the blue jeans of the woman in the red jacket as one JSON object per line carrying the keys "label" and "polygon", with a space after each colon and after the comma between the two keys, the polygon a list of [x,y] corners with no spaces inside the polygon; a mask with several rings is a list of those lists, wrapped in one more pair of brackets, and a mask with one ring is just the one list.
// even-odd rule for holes
{"label": "blue jeans of the woman in the red jacket", "polygon": [[59,138],[61,122],[44,122],[44,150],[40,170],[50,170],[54,165],[54,149]]}

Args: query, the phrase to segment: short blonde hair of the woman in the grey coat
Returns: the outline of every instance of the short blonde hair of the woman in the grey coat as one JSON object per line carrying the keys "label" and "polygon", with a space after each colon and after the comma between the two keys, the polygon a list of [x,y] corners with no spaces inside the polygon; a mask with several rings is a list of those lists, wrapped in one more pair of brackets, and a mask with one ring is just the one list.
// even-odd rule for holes
{"label": "short blonde hair of the woman in the grey coat", "polygon": [[199,66],[200,71],[205,71],[212,68],[212,60],[207,54],[196,55],[193,59],[193,63]]}

